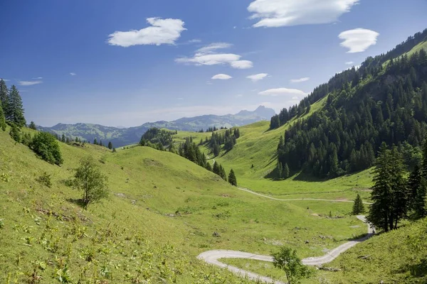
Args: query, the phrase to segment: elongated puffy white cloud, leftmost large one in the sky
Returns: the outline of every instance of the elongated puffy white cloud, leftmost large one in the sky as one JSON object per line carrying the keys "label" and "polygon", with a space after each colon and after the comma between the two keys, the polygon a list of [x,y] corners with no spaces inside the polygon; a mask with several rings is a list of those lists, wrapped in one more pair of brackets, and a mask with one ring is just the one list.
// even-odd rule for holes
{"label": "elongated puffy white cloud, leftmost large one in the sky", "polygon": [[176,18],[147,18],[147,22],[152,26],[139,31],[115,31],[108,35],[107,43],[124,48],[132,45],[172,45],[186,30],[184,21]]}

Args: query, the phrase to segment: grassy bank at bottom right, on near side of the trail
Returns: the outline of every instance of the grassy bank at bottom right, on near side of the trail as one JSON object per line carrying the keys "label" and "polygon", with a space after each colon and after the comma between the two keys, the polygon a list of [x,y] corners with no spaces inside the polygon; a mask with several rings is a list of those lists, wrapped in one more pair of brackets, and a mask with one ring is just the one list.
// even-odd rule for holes
{"label": "grassy bank at bottom right, on near side of the trail", "polygon": [[[338,272],[318,271],[302,283],[427,283],[427,219],[397,231],[375,236],[355,246],[325,267]],[[277,280],[283,273],[264,261],[238,258],[223,259],[228,263]],[[320,280],[322,279],[323,282]]]}

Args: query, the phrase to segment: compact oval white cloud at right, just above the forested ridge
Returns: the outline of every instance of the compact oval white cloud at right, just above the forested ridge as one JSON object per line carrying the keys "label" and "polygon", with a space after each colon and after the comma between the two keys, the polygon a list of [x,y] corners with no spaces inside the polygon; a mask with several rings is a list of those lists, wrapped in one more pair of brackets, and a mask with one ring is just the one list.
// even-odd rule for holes
{"label": "compact oval white cloud at right, just above the forested ridge", "polygon": [[347,53],[362,53],[369,46],[376,45],[376,38],[379,33],[367,30],[366,28],[354,28],[354,30],[343,31],[338,37],[344,40],[340,45],[348,48]]}

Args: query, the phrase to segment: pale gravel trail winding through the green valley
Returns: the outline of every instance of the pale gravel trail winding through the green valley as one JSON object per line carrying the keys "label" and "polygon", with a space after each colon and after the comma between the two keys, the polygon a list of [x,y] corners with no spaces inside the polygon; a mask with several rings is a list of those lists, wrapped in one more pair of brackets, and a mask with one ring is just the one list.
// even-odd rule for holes
{"label": "pale gravel trail winding through the green valley", "polygon": [[[269,198],[271,200],[278,200],[278,201],[296,201],[296,200],[315,200],[315,201],[329,201],[329,202],[352,202],[347,200],[322,200],[322,199],[313,199],[313,198],[302,198],[302,199],[295,199],[295,200],[281,200],[275,197],[269,197],[267,195],[261,195],[260,193],[253,192],[251,190],[248,190],[246,188],[238,188],[239,190],[243,190],[246,192],[249,192],[253,195],[258,195],[261,197]],[[370,204],[367,202],[364,202],[365,204]],[[347,251],[348,249],[352,248],[353,246],[356,246],[362,241],[366,241],[371,236],[375,234],[373,227],[371,224],[367,222],[366,217],[363,215],[357,216],[357,219],[367,224],[368,233],[366,236],[364,236],[362,239],[357,239],[354,241],[348,241],[345,244],[342,244],[341,246],[338,246],[335,249],[332,249],[332,251],[327,252],[324,256],[317,256],[317,257],[309,257],[302,259],[302,263],[306,266],[320,266],[324,263],[329,263],[333,261],[335,258],[337,258],[341,253],[344,251]],[[235,266],[229,266],[226,263],[222,263],[221,261],[218,261],[220,258],[248,258],[253,259],[257,261],[269,261],[273,262],[272,256],[262,256],[257,255],[253,253],[246,253],[243,251],[227,251],[227,250],[215,250],[215,251],[205,251],[204,253],[200,253],[197,258],[205,261],[206,263],[213,264],[214,266],[219,266],[221,268],[227,268],[228,271],[231,271],[232,273],[235,273],[243,278],[248,278],[250,280],[259,280],[264,283],[275,283],[275,284],[286,284],[277,280],[273,280],[272,278],[259,275],[257,273],[253,273],[250,271],[245,271],[241,268],[237,268]]]}

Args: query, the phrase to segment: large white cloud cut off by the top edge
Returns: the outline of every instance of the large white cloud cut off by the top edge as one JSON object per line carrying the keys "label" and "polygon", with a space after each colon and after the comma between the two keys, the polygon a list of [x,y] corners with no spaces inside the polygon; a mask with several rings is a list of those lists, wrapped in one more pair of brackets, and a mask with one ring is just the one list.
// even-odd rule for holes
{"label": "large white cloud cut off by the top edge", "polygon": [[248,6],[253,27],[276,28],[305,24],[332,23],[359,0],[255,0]]}

